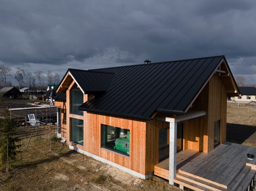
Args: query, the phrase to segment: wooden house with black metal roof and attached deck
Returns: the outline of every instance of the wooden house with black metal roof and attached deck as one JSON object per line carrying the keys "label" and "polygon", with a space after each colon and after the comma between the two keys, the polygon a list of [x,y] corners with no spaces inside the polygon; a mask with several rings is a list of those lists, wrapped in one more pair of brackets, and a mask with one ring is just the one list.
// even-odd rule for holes
{"label": "wooden house with black metal roof and attached deck", "polygon": [[256,148],[226,143],[227,96],[239,90],[224,55],[68,69],[57,92],[66,93],[55,105],[70,149],[181,188],[238,189],[255,178],[256,160],[246,154]]}

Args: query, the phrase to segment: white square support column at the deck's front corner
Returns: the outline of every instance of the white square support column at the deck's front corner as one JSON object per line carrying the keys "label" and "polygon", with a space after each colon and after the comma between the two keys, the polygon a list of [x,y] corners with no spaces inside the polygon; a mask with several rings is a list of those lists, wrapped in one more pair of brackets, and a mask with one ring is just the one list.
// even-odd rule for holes
{"label": "white square support column at the deck's front corner", "polygon": [[170,153],[169,153],[169,184],[174,184],[177,169],[177,122],[175,119],[168,119],[170,122]]}

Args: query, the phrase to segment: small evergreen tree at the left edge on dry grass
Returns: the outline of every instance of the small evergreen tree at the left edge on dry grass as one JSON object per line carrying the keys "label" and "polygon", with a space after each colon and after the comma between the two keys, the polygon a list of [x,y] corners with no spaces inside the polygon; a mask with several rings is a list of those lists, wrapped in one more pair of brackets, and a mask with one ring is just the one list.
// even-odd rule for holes
{"label": "small evergreen tree at the left edge on dry grass", "polygon": [[13,132],[16,131],[16,122],[10,119],[10,112],[5,110],[2,121],[0,121],[0,165],[7,167],[7,142],[8,142],[8,163],[11,167],[11,163],[16,159],[18,154],[18,148],[20,145],[16,145],[20,141],[18,137],[13,137]]}

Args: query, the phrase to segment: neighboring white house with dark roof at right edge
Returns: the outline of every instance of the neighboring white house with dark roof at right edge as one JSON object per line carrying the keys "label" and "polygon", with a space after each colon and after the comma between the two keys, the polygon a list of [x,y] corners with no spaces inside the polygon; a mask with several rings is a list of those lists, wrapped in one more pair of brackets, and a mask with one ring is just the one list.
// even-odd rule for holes
{"label": "neighboring white house with dark roof at right edge", "polygon": [[256,101],[256,88],[254,87],[239,87],[240,96],[231,97],[231,101],[236,101],[240,103],[249,103],[251,101]]}

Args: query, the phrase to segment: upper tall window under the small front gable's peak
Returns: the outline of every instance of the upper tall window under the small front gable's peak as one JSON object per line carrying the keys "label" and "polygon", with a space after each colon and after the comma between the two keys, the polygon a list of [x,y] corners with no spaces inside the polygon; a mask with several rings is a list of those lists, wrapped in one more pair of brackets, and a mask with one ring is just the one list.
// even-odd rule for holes
{"label": "upper tall window under the small front gable's peak", "polygon": [[83,104],[83,92],[75,84],[71,89],[71,113],[77,115],[83,115],[83,111],[79,110],[78,107]]}

